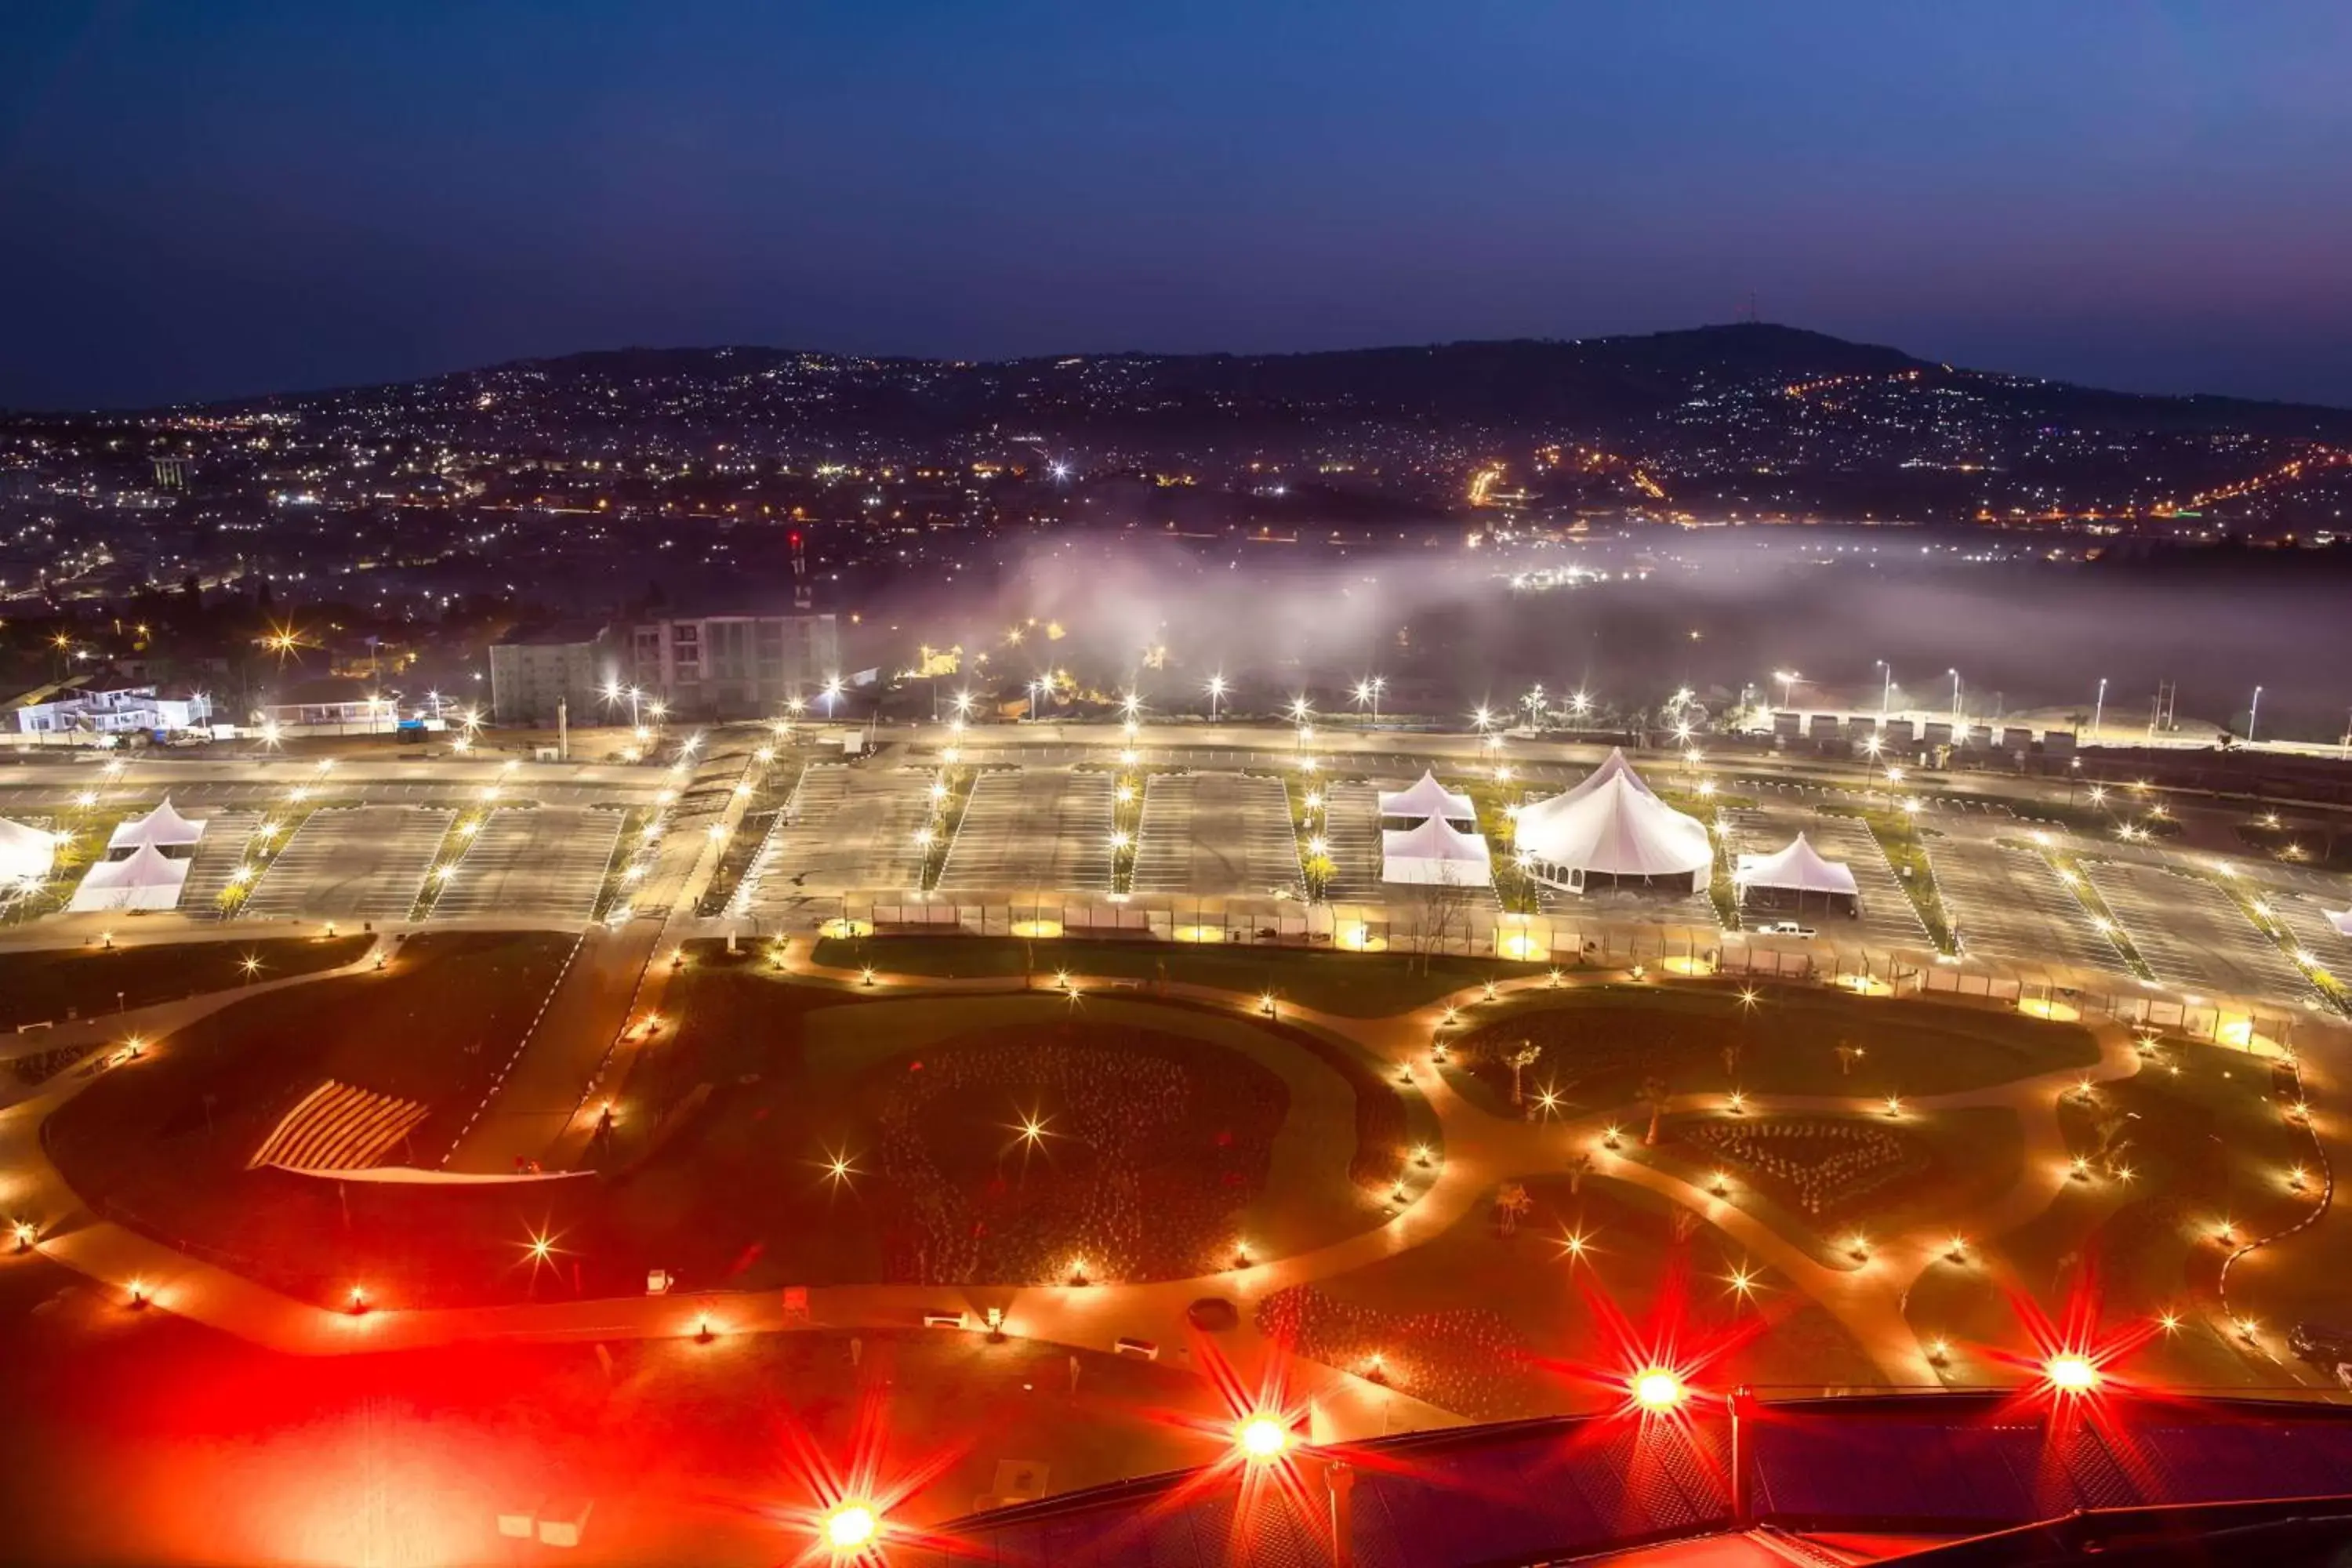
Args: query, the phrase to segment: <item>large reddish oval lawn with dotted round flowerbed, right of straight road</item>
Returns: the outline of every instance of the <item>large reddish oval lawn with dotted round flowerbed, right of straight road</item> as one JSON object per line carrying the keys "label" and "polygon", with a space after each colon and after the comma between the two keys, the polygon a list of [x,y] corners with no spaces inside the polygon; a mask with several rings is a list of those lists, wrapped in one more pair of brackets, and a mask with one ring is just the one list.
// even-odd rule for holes
{"label": "large reddish oval lawn with dotted round flowerbed, right of straight road", "polygon": [[[696,1281],[1033,1284],[1073,1255],[1204,1274],[1235,1241],[1265,1258],[1378,1222],[1367,1187],[1435,1138],[1345,1041],[1221,1009],[844,994],[715,947],[680,985],[604,1159],[600,1248]],[[663,1105],[682,1121],[649,1150]]]}

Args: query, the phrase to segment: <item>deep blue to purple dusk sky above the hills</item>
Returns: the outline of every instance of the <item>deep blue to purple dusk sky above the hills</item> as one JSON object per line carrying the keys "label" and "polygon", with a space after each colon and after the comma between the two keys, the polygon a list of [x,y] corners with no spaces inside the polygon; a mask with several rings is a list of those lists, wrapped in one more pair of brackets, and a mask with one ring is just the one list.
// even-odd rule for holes
{"label": "deep blue to purple dusk sky above the hills", "polygon": [[2352,404],[2343,0],[42,0],[0,407],[1769,320]]}

